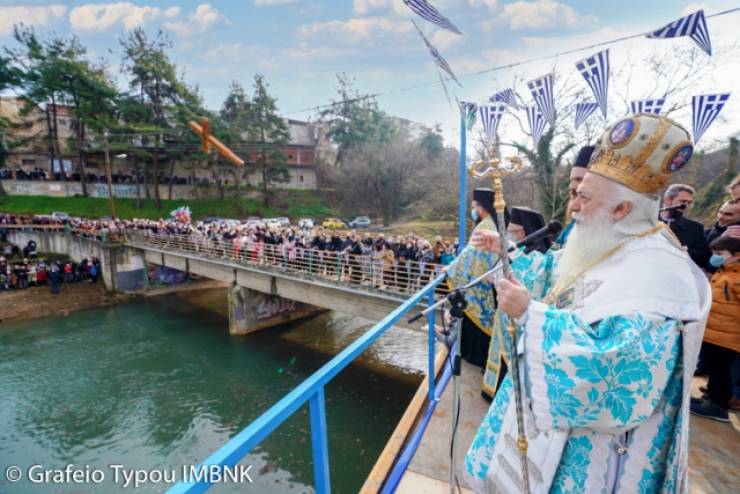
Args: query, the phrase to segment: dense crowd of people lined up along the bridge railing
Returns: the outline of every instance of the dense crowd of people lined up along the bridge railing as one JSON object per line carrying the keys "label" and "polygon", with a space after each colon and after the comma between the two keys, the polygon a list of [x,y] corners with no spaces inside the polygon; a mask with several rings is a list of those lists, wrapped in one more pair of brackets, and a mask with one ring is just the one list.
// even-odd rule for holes
{"label": "dense crowd of people lined up along the bridge railing", "polygon": [[430,241],[413,233],[386,237],[382,233],[278,227],[262,222],[61,219],[0,213],[0,233],[3,224],[57,226],[101,240],[121,233],[167,238],[206,255],[276,264],[311,275],[403,292],[418,290],[439,275],[458,250],[457,239],[448,241],[441,236]]}

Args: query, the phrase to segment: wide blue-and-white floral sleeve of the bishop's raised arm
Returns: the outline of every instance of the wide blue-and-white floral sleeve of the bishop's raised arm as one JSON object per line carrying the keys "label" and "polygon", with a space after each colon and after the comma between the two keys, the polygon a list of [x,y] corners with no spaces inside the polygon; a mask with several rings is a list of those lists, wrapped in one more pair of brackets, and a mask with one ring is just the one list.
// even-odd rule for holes
{"label": "wide blue-and-white floral sleeve of the bishop's raised arm", "polygon": [[590,325],[531,302],[525,374],[538,428],[618,434],[636,427],[658,405],[679,350],[673,320],[633,313]]}

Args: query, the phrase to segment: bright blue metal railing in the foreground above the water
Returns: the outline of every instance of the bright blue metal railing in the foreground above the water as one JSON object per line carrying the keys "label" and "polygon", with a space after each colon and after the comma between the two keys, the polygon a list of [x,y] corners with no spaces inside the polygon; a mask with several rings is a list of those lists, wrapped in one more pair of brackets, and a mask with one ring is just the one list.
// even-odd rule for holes
{"label": "bright blue metal railing in the foreground above the water", "polygon": [[[401,317],[411,311],[426,297],[429,303],[434,302],[434,289],[444,279],[440,275],[424,288],[411,296],[382,321],[370,328],[361,337],[352,342],[347,348],[324,364],[293,391],[285,395],[269,410],[249,424],[239,434],[230,439],[218,451],[209,456],[197,468],[203,471],[211,466],[233,467],[242,458],[262,442],[272,431],[277,429],[288,417],[308,402],[309,418],[311,423],[311,446],[313,454],[314,486],[318,494],[329,493],[331,481],[329,478],[329,446],[326,431],[326,406],[324,402],[324,388],[339,372],[355,360],[367,347],[380,338]],[[434,311],[427,316],[429,328],[429,368],[427,379],[429,382],[429,398],[434,400]],[[204,492],[211,483],[207,479],[200,481],[182,481],[173,486],[170,494]]]}

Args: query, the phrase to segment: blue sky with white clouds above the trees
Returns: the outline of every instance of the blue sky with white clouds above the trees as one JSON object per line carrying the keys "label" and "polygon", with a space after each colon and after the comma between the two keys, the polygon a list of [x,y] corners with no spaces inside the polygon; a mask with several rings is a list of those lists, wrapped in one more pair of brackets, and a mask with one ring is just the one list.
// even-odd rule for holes
{"label": "blue sky with white clouds above the trees", "polygon": [[[740,6],[737,0],[432,0],[462,31],[458,36],[426,21],[417,22],[460,76],[463,88],[450,86],[461,100],[484,101],[498,89],[555,68],[574,72],[574,62],[597,51],[550,58],[514,69],[478,71],[637,34],[704,8],[712,14]],[[708,20],[715,45],[732,43],[740,12]],[[174,41],[172,57],[190,84],[198,84],[206,104],[220,107],[230,81],[251,85],[255,72],[265,74],[280,111],[306,119],[301,111],[327,103],[334,93],[335,74],[346,72],[366,93],[389,93],[378,103],[390,114],[442,125],[445,138],[456,145],[457,111],[449,106],[439,84],[409,87],[438,80],[435,66],[414,32],[402,0],[144,0],[116,3],[83,1],[18,2],[0,0],[0,45],[12,46],[12,26],[24,22],[41,33],[77,34],[90,53],[104,57],[117,77],[118,40],[126,30],[143,25],[162,29]],[[645,97],[656,81],[639,70],[640,56],[670,54],[675,46],[690,46],[689,38],[637,39],[611,45],[612,66],[633,64],[635,98]],[[733,50],[738,50],[737,47]],[[708,59],[708,57],[707,57]],[[734,59],[734,60],[732,60]],[[713,67],[697,92],[738,89],[740,57],[735,54]],[[701,69],[700,69],[701,70]],[[583,82],[581,80],[581,82]],[[121,83],[125,81],[121,80]],[[556,85],[558,81],[556,81]],[[641,94],[644,93],[644,94]],[[734,96],[740,99],[740,94]],[[737,132],[740,101],[731,99],[725,121],[704,139],[711,142]],[[687,126],[690,114],[676,115]],[[513,128],[513,127],[512,127]],[[512,130],[512,132],[516,132]],[[703,139],[703,140],[704,140]]]}

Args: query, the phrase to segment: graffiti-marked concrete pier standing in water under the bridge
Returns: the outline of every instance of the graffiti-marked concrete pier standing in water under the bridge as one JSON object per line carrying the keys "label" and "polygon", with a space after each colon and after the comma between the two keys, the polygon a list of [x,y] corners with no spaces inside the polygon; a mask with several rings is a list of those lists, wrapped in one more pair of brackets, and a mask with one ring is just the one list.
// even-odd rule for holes
{"label": "graffiti-marked concrete pier standing in water under the bridge", "polygon": [[313,305],[229,285],[229,333],[244,335],[325,312]]}

